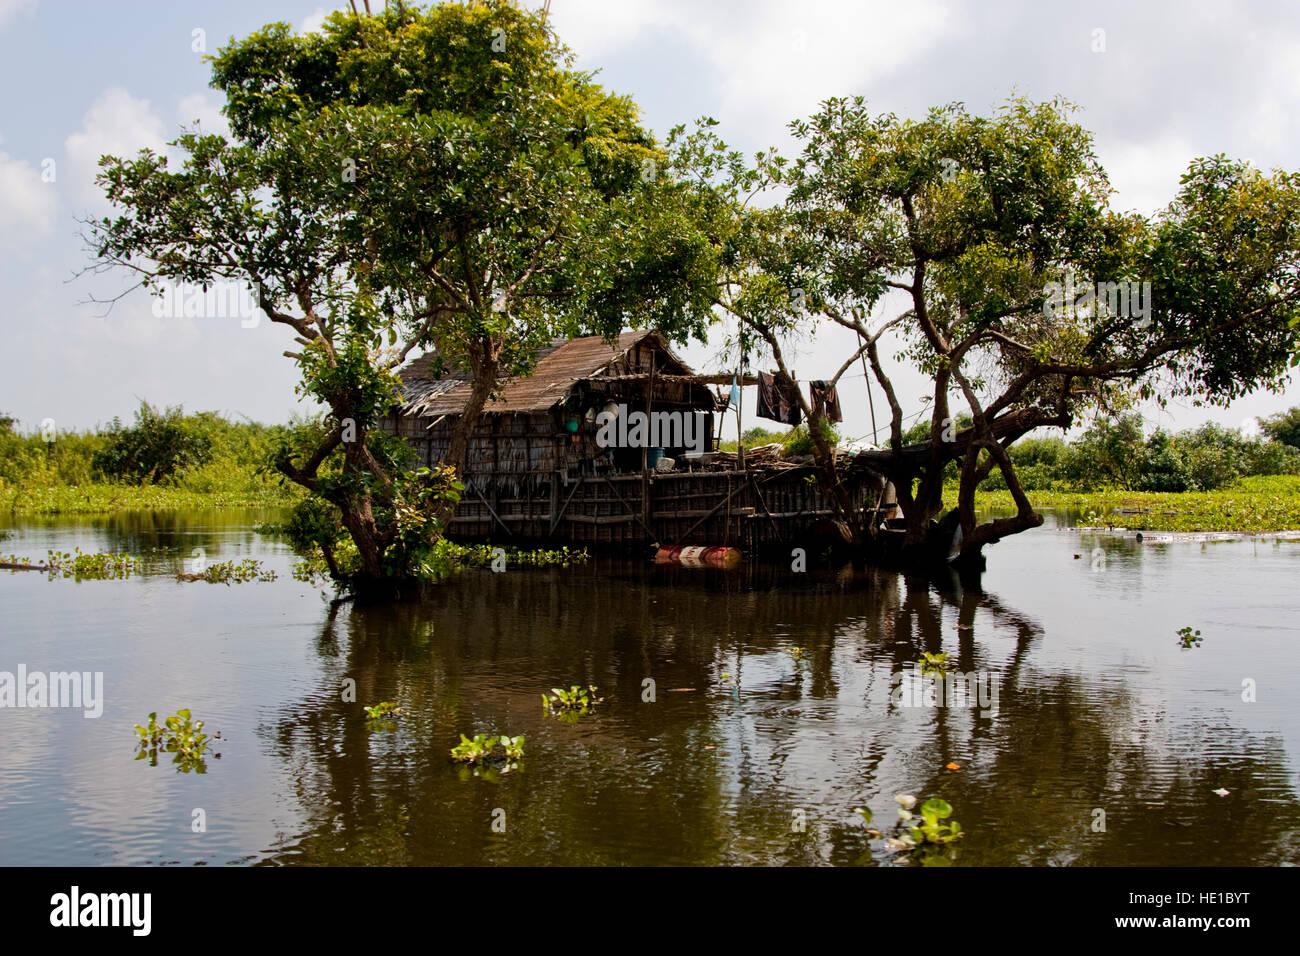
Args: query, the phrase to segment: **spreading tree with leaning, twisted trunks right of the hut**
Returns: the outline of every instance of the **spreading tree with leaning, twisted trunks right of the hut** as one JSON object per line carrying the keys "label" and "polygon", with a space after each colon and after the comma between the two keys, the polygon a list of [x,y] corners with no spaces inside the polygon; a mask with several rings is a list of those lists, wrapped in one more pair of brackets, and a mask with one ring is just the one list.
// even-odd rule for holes
{"label": "spreading tree with leaning, twisted trunks right of the hut", "polygon": [[[784,343],[828,323],[857,333],[831,380],[864,358],[884,392],[889,447],[868,459],[898,490],[915,557],[936,544],[946,555],[959,529],[961,554],[976,558],[1043,523],[1008,455],[1034,429],[1147,398],[1222,403],[1279,388],[1296,364],[1300,174],[1199,159],[1160,215],[1118,212],[1071,112],[1017,98],[987,117],[954,104],[905,120],[832,99],[792,124],[793,160],[770,151],[745,163],[711,121],[673,142],[725,235],[718,302],[779,373],[790,375]],[[933,378],[920,445],[904,446],[887,333]],[[954,402],[971,415],[965,431]],[[833,475],[816,410],[805,412]],[[936,541],[950,462],[959,490]],[[1017,514],[982,523],[974,494],[993,468]]]}

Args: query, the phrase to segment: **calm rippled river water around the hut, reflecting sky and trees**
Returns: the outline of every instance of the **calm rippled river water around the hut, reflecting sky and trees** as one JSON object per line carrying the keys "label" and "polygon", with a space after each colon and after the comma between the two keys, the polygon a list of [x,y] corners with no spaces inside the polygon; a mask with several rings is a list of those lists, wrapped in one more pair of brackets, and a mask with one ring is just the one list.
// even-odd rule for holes
{"label": "calm rippled river water around the hut, reflecting sky and trees", "polygon": [[[602,558],[332,609],[254,531],[270,516],[8,525],[6,554],[144,574],[0,572],[0,671],[104,675],[95,719],[0,709],[0,864],[902,865],[854,813],[888,835],[896,793],[954,808],[963,866],[1300,862],[1300,541],[1053,515],[989,549],[978,589]],[[280,578],[179,583],[195,548]],[[923,652],[983,706],[894,692]],[[604,701],[564,722],[542,695],[571,684]],[[369,730],[385,700],[404,717]],[[133,760],[133,724],[181,708],[221,757]],[[460,734],[524,735],[525,757],[474,775]]]}

